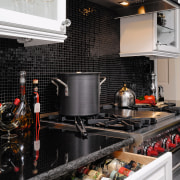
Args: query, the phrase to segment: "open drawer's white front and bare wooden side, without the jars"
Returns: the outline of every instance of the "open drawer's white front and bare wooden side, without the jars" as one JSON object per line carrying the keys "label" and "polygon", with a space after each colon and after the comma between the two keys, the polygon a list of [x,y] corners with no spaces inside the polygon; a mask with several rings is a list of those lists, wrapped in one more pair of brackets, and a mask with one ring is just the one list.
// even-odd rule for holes
{"label": "open drawer's white front and bare wooden side, without the jars", "polygon": [[167,152],[158,158],[115,151],[114,157],[122,161],[134,160],[145,166],[126,180],[172,180],[172,153]]}

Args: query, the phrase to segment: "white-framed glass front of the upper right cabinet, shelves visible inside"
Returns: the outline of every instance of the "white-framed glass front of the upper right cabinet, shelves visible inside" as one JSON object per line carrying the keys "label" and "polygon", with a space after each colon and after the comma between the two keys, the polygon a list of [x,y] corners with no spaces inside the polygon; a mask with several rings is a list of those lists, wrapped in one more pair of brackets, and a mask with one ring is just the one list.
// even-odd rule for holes
{"label": "white-framed glass front of the upper right cabinet, shelves visible inside", "polygon": [[155,49],[179,53],[179,10],[154,13]]}

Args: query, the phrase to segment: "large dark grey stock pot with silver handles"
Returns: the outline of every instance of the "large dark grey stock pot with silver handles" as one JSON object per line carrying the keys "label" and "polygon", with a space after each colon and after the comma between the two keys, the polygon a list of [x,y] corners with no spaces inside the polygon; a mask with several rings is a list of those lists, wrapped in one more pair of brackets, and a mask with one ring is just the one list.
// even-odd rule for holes
{"label": "large dark grey stock pot with silver handles", "polygon": [[57,86],[59,112],[64,116],[91,116],[100,111],[99,72],[59,73],[52,83]]}

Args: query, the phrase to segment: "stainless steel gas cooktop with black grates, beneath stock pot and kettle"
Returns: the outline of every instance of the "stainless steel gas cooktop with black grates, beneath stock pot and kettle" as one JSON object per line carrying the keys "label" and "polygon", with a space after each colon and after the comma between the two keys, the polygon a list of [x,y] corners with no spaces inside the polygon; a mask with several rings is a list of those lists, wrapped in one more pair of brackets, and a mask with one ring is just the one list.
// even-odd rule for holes
{"label": "stainless steel gas cooktop with black grates, beneath stock pot and kettle", "polygon": [[[87,137],[87,127],[97,127],[108,130],[120,130],[133,133],[146,133],[151,131],[152,125],[161,122],[168,123],[176,121],[180,114],[180,107],[174,103],[163,103],[158,106],[135,105],[128,108],[119,108],[113,104],[101,106],[100,113],[94,116],[57,116],[46,117],[45,121],[71,124],[77,127],[81,135]],[[157,126],[157,127],[158,127]],[[148,130],[147,130],[148,129]]]}

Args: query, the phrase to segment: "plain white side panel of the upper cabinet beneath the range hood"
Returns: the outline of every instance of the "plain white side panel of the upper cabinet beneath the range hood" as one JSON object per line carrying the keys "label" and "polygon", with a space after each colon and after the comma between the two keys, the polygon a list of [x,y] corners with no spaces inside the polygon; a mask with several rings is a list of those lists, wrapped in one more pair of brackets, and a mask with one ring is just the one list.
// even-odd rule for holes
{"label": "plain white side panel of the upper cabinet beneath the range hood", "polygon": [[[153,49],[153,14],[120,19],[120,54],[142,55]],[[140,55],[140,54],[139,54]]]}

